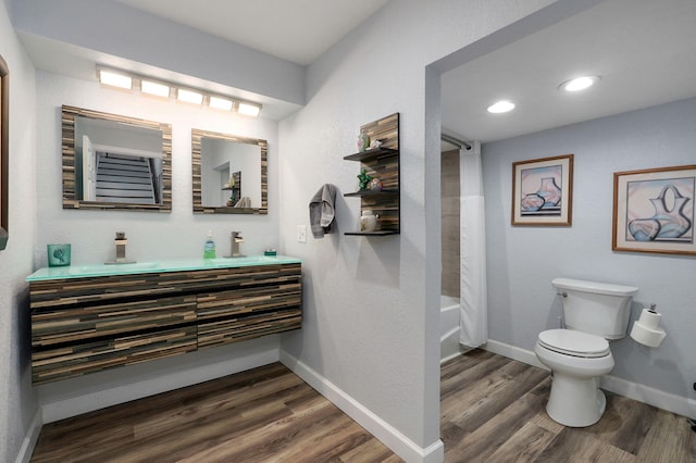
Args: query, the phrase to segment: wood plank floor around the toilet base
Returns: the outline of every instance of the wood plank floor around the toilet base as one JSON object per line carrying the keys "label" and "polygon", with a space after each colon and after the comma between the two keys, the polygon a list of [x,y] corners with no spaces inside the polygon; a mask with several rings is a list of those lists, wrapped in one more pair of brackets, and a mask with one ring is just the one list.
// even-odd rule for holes
{"label": "wood plank floor around the toilet base", "polygon": [[696,462],[685,417],[607,392],[607,411],[585,428],[546,414],[548,372],[474,350],[442,367],[446,462]]}

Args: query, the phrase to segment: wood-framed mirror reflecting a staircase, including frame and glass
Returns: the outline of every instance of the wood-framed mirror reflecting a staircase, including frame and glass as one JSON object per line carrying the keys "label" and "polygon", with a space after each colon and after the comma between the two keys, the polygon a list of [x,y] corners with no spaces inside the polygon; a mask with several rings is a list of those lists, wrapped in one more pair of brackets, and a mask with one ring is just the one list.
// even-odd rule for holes
{"label": "wood-framed mirror reflecting a staircase, including frame and glass", "polygon": [[63,209],[172,210],[172,126],[63,105]]}

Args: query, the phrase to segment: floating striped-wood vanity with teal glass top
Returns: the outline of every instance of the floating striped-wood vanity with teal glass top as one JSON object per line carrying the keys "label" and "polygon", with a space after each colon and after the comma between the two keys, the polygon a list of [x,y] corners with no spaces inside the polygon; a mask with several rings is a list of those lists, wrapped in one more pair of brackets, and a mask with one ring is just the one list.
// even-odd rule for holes
{"label": "floating striped-wood vanity with teal glass top", "polygon": [[302,323],[301,261],[283,255],[46,267],[27,281],[34,385]]}

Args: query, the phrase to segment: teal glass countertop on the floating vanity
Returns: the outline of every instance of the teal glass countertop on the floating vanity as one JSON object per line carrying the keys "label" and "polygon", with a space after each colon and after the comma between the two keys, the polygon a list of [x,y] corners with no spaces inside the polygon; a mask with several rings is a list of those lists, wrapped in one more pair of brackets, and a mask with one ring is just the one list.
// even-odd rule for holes
{"label": "teal glass countertop on the floating vanity", "polygon": [[87,264],[44,267],[26,277],[27,281],[139,273],[187,272],[210,268],[246,267],[251,265],[299,264],[301,259],[287,255],[249,255],[245,258],[178,259],[124,264]]}

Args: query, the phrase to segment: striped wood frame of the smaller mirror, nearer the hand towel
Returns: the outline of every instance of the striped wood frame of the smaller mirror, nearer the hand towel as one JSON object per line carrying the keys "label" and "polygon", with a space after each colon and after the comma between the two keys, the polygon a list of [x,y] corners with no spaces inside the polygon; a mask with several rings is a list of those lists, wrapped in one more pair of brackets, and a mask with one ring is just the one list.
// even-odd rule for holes
{"label": "striped wood frame of the smaller mirror, nearer the hand towel", "polygon": [[[261,148],[261,208],[207,207],[202,204],[201,140],[203,137],[258,145]],[[191,172],[194,180],[194,213],[196,214],[268,214],[269,213],[269,142],[260,138],[238,137],[191,128]]]}

